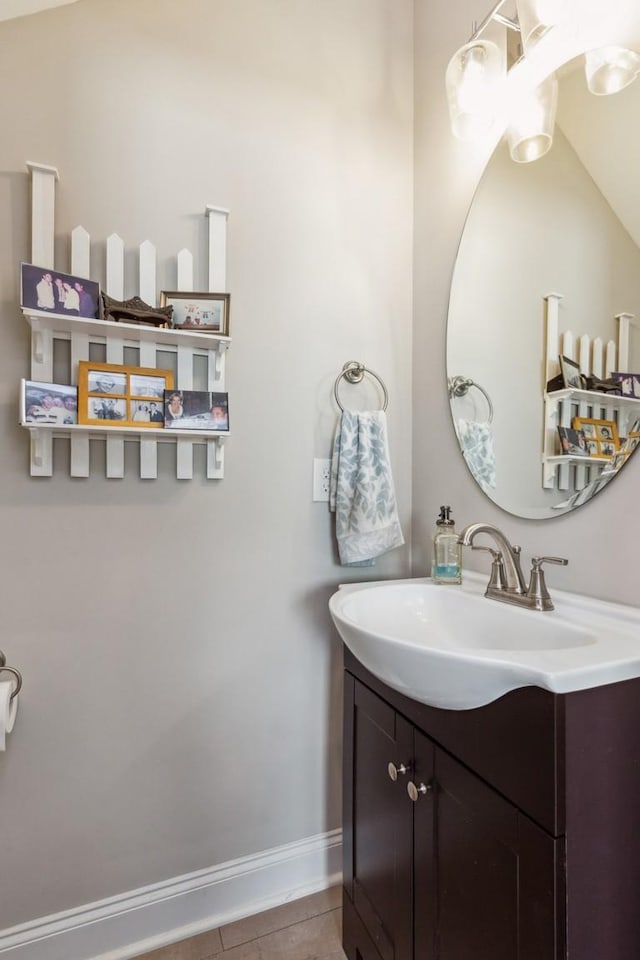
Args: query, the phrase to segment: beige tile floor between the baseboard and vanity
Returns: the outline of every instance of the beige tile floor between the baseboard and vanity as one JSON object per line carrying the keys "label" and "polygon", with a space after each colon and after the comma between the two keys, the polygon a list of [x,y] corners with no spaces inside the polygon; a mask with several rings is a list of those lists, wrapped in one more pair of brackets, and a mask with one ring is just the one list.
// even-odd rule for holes
{"label": "beige tile floor between the baseboard and vanity", "polygon": [[345,960],[342,891],[332,887],[137,960]]}

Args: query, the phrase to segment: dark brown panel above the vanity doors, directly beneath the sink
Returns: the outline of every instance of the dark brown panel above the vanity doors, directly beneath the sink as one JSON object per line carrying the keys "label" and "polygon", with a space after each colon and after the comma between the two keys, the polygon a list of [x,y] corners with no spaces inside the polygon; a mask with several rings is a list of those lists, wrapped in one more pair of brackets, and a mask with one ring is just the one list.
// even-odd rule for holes
{"label": "dark brown panel above the vanity doors, directly beneath the sink", "polygon": [[553,836],[565,832],[564,699],[523,687],[475,710],[410,700],[345,648],[345,667]]}

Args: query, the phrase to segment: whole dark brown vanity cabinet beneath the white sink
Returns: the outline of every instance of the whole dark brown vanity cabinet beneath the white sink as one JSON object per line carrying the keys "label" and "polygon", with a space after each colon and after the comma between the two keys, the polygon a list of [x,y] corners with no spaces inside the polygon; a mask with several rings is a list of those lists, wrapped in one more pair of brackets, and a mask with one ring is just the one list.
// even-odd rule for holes
{"label": "whole dark brown vanity cabinet beneath the white sink", "polygon": [[349,960],[640,956],[640,678],[449,710],[344,656]]}

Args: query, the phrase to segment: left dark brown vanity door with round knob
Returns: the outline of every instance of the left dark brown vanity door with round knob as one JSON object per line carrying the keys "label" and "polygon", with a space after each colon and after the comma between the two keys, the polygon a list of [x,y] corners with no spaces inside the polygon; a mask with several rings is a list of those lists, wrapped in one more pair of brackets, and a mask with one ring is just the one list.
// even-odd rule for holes
{"label": "left dark brown vanity door with round knob", "polygon": [[[345,687],[345,889],[382,960],[412,960],[413,730],[353,678]],[[347,715],[349,712],[349,715]],[[404,764],[396,781],[388,765]],[[347,769],[350,765],[351,771]],[[349,785],[351,778],[351,785]]]}

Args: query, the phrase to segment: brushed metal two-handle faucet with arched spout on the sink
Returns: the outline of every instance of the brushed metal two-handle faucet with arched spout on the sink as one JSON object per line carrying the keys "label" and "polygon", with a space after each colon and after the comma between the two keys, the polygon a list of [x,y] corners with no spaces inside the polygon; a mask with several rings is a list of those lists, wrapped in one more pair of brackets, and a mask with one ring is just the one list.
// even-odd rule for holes
{"label": "brushed metal two-handle faucet with arched spout on the sink", "polygon": [[[491,547],[474,545],[479,533],[493,538],[498,550]],[[553,610],[553,603],[544,579],[543,563],[558,563],[566,566],[564,557],[532,557],[529,585],[525,583],[520,566],[520,547],[511,546],[504,533],[491,523],[470,523],[462,530],[458,542],[472,550],[488,550],[493,558],[491,579],[485,591],[485,597],[501,600],[503,603],[515,603],[529,610]]]}

